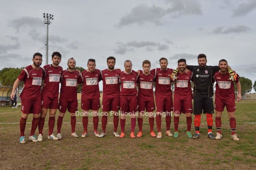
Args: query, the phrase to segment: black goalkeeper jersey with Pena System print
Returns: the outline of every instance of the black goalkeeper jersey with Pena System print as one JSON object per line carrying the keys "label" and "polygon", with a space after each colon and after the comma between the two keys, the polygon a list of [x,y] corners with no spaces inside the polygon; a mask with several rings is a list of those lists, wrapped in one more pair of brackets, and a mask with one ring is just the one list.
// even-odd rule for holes
{"label": "black goalkeeper jersey with Pena System print", "polygon": [[193,96],[211,98],[213,96],[212,78],[213,74],[219,70],[219,66],[206,65],[200,68],[199,65],[187,65],[187,69],[193,72]]}

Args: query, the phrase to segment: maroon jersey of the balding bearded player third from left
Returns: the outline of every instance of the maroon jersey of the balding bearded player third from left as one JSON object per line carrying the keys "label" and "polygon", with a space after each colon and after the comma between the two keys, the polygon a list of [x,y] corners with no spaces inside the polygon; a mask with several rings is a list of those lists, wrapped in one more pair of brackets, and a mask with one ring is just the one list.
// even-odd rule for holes
{"label": "maroon jersey of the balding bearded player third from left", "polygon": [[74,70],[70,72],[63,70],[61,77],[60,99],[59,101],[75,101],[77,100],[76,85],[81,84],[81,80],[78,80],[80,75],[79,71]]}

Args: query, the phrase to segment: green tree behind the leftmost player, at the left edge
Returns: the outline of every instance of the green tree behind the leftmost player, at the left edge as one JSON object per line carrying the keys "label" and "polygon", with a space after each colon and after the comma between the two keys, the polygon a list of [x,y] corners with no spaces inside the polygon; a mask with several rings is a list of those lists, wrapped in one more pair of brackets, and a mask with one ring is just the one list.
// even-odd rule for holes
{"label": "green tree behind the leftmost player, at the left edge", "polygon": [[[21,71],[21,68],[4,68],[4,70],[2,69],[0,75],[1,84],[6,87],[12,87],[13,83],[15,82]],[[18,92],[22,90],[23,84],[24,82],[19,84]]]}

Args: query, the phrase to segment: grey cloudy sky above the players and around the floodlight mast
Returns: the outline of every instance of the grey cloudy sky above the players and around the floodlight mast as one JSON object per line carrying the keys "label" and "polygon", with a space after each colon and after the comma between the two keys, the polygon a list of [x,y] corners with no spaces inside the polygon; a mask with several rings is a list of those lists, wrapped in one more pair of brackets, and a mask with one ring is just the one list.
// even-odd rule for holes
{"label": "grey cloudy sky above the players and around the floodlight mast", "polygon": [[35,52],[45,57],[43,13],[49,13],[49,55],[61,52],[64,68],[74,57],[77,66],[94,58],[105,69],[108,56],[119,68],[126,59],[134,70],[145,59],[159,67],[161,57],[176,68],[179,58],[197,65],[205,53],[207,65],[224,58],[240,76],[256,80],[255,0],[13,0],[2,1],[0,10],[0,69],[29,65]]}

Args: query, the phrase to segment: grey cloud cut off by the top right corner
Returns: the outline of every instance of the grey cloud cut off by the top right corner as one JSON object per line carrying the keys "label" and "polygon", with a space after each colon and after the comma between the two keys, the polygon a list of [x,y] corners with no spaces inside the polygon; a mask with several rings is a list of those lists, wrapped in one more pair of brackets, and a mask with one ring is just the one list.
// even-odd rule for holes
{"label": "grey cloud cut off by the top right corner", "polygon": [[238,7],[233,10],[232,17],[245,16],[255,9],[256,9],[256,1],[255,0],[247,1],[245,3],[238,5]]}

